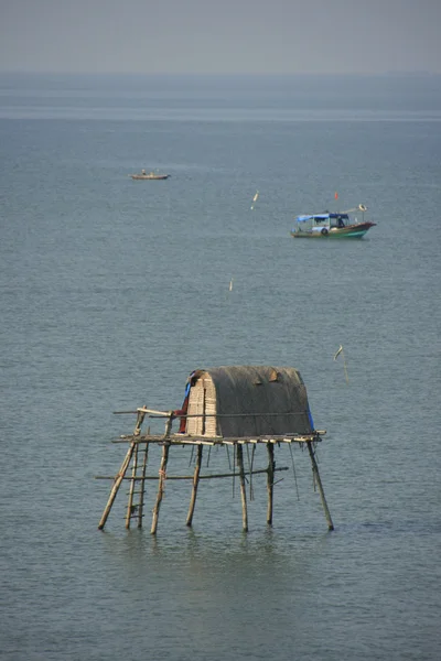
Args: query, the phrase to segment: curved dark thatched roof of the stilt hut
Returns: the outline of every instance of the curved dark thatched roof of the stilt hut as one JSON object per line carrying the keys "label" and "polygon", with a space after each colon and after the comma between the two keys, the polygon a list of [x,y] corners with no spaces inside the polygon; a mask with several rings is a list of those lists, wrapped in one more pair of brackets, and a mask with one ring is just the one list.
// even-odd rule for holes
{"label": "curved dark thatched roof of the stilt hut", "polygon": [[310,434],[313,431],[306,389],[293,367],[215,367],[197,370],[195,380],[203,373],[208,373],[215,386],[222,436]]}

